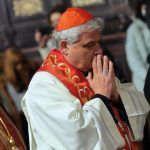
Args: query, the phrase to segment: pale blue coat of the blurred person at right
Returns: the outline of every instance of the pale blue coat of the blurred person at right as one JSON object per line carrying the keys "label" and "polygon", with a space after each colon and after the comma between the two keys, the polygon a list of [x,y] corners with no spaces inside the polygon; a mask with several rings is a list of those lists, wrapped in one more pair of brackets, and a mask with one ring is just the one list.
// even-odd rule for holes
{"label": "pale blue coat of the blurred person at right", "polygon": [[145,77],[149,68],[150,30],[146,23],[134,19],[127,30],[126,58],[132,72],[132,82],[143,92]]}

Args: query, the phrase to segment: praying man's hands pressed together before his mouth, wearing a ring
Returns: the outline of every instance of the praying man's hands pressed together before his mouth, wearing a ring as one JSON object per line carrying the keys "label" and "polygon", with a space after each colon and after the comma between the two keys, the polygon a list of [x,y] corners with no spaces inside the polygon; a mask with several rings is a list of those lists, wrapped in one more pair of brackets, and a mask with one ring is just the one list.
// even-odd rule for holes
{"label": "praying man's hands pressed together before his mouth, wearing a ring", "polygon": [[94,93],[117,101],[119,94],[115,83],[113,63],[107,56],[97,55],[93,59],[92,67],[93,72],[89,72],[87,80]]}

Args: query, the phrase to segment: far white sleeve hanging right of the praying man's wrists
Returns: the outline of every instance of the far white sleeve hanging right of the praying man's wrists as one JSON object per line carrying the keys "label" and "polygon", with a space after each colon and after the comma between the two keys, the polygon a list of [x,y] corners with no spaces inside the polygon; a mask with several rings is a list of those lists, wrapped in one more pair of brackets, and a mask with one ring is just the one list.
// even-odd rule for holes
{"label": "far white sleeve hanging right of the praying man's wrists", "polygon": [[117,81],[118,92],[126,110],[135,140],[142,140],[143,129],[150,106],[143,93],[131,83],[120,84]]}

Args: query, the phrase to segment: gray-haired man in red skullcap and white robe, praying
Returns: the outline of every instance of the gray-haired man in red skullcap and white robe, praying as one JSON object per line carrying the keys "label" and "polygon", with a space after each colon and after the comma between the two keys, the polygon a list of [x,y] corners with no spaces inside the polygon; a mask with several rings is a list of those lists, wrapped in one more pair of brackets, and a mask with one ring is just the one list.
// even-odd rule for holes
{"label": "gray-haired man in red skullcap and white robe, praying", "polygon": [[103,26],[81,8],[60,17],[58,49],[48,54],[22,100],[30,150],[140,150],[150,106],[132,84],[115,78],[99,45]]}

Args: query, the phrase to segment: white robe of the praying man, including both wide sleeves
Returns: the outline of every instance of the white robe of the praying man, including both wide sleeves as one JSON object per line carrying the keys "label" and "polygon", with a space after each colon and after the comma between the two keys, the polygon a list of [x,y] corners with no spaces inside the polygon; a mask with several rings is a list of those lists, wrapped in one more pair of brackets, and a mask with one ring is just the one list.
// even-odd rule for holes
{"label": "white robe of the praying man, including both wide sleeves", "polygon": [[[142,139],[149,105],[135,89],[131,96],[127,85],[117,84],[135,139]],[[22,107],[29,125],[30,150],[116,150],[125,144],[99,98],[81,107],[79,100],[50,73],[34,75]]]}

